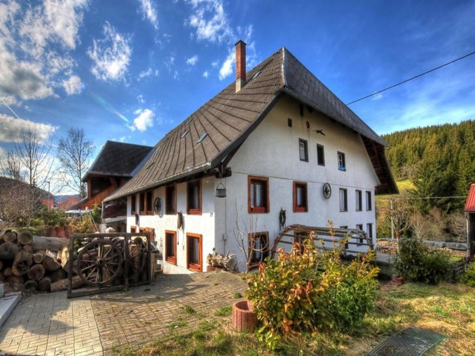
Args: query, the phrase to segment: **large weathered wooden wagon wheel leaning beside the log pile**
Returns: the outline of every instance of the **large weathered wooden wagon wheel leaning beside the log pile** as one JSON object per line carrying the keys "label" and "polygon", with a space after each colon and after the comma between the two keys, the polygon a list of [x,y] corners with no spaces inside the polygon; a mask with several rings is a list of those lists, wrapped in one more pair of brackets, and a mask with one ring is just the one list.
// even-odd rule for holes
{"label": "large weathered wooden wagon wheel leaning beside the log pile", "polygon": [[77,272],[87,285],[103,286],[121,272],[122,260],[122,251],[112,241],[91,241],[77,255]]}

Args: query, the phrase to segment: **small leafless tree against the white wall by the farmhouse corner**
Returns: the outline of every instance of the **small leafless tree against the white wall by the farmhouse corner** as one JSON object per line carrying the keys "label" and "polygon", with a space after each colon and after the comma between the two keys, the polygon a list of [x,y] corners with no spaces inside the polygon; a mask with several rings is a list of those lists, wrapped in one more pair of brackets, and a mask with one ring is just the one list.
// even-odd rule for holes
{"label": "small leafless tree against the white wall by the farmhouse corner", "polygon": [[253,215],[251,214],[250,216],[249,226],[247,226],[246,221],[241,219],[237,210],[236,200],[236,229],[234,230],[234,238],[237,242],[237,248],[244,254],[246,272],[250,271],[253,264],[264,262],[264,259],[269,255],[270,248],[268,238],[264,242],[260,239],[259,241],[255,240],[253,232],[256,231],[257,220],[254,224]]}

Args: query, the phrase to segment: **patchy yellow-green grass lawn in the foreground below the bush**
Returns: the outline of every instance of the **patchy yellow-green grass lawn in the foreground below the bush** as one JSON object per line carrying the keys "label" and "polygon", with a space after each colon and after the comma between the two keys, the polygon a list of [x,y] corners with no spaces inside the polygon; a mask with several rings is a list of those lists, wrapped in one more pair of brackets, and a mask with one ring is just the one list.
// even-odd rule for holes
{"label": "patchy yellow-green grass lawn in the foreground below the bush", "polygon": [[[221,308],[222,309],[222,308]],[[210,313],[211,314],[211,313]],[[227,314],[216,312],[214,315]],[[290,336],[275,351],[267,350],[254,334],[237,333],[230,317],[203,318],[194,330],[175,332],[139,349],[114,348],[120,356],[212,355],[364,355],[387,336],[418,326],[447,337],[428,355],[475,355],[475,288],[463,284],[438,286],[408,283],[381,289],[377,306],[357,335]]]}

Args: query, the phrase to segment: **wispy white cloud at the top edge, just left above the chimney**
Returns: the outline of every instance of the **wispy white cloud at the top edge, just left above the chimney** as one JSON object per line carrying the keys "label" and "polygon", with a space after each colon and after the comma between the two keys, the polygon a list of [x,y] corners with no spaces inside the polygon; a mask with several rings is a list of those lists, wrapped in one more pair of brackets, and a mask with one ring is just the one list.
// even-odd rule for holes
{"label": "wispy white cloud at the top edge, just left above the chimney", "polygon": [[188,0],[193,7],[189,24],[196,29],[198,40],[228,42],[233,38],[228,15],[221,0]]}

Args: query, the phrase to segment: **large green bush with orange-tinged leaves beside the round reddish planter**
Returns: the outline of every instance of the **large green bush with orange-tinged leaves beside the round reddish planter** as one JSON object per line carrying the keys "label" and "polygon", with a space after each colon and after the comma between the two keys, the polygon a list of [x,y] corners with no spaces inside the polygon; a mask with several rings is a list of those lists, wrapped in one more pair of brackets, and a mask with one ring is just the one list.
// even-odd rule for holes
{"label": "large green bush with orange-tinged leaves beside the round reddish planter", "polygon": [[373,253],[342,263],[346,241],[320,251],[310,237],[303,250],[297,243],[290,253],[280,249],[277,260],[267,258],[258,273],[247,275],[245,296],[254,304],[263,324],[261,339],[270,347],[281,332],[354,330],[361,325],[374,306],[378,268],[371,264]]}

